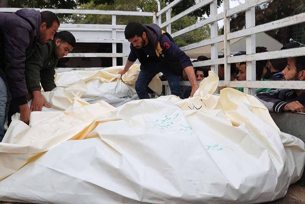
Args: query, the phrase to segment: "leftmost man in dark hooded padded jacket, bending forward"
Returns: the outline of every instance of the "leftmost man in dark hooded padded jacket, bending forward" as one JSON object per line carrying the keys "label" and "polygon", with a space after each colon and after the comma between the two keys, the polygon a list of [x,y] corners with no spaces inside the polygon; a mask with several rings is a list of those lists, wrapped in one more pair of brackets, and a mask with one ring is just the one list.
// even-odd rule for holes
{"label": "leftmost man in dark hooded padded jacket, bending forward", "polygon": [[29,122],[25,61],[38,43],[44,44],[53,39],[58,27],[59,20],[50,11],[20,9],[15,14],[0,13],[0,76],[3,82],[0,82],[0,137],[10,98],[11,104],[19,106],[21,120]]}

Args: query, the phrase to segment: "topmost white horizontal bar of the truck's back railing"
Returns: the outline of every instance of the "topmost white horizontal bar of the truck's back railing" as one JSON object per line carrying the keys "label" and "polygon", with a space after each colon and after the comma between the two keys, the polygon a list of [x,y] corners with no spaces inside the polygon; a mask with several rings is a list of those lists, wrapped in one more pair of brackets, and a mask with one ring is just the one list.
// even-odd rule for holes
{"label": "topmost white horizontal bar of the truck's back railing", "polygon": [[[16,12],[22,8],[0,8],[0,12]],[[75,14],[100,14],[100,15],[118,15],[118,16],[153,16],[152,12],[138,11],[105,11],[105,10],[88,10],[88,9],[38,9],[41,11],[52,11],[54,13],[75,13]]]}

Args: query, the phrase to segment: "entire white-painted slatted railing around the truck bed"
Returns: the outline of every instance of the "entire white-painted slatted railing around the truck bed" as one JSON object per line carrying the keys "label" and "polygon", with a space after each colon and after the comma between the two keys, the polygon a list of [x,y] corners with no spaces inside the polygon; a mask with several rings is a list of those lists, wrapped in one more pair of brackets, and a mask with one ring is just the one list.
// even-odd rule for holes
{"label": "entire white-painted slatted railing around the truck bed", "polygon": [[[156,0],[158,4],[158,12],[130,12],[130,11],[103,11],[103,10],[73,10],[73,9],[38,9],[38,10],[50,10],[55,13],[76,13],[76,14],[100,14],[100,15],[112,15],[111,25],[92,25],[92,24],[61,24],[60,29],[69,30],[72,33],[77,31],[86,31],[90,33],[100,33],[109,29],[112,36],[109,38],[78,38],[77,42],[108,42],[113,43],[112,53],[71,53],[68,57],[112,57],[113,66],[116,65],[117,57],[126,58],[129,54],[128,41],[124,38],[125,25],[116,24],[117,15],[127,16],[152,16],[152,22],[157,23],[160,27],[166,27],[167,32],[171,33],[171,23],[186,16],[203,6],[210,5],[210,17],[188,26],[175,33],[171,33],[172,37],[177,37],[182,34],[188,33],[192,30],[198,29],[203,26],[210,25],[211,33],[210,39],[202,40],[184,47],[180,47],[181,50],[187,51],[193,48],[211,45],[211,59],[201,62],[194,62],[194,67],[212,65],[211,69],[217,74],[218,64],[224,64],[224,81],[219,82],[219,86],[226,87],[244,87],[244,92],[248,94],[254,94],[255,88],[289,88],[289,89],[305,89],[305,82],[303,81],[255,81],[256,69],[255,61],[274,59],[274,58],[287,58],[305,55],[305,47],[294,48],[281,51],[269,51],[264,53],[255,53],[256,39],[255,34],[274,30],[286,26],[291,26],[298,23],[305,22],[305,13],[301,13],[295,16],[275,20],[270,23],[262,25],[255,25],[255,6],[263,3],[270,2],[271,0],[246,0],[245,3],[230,9],[230,1],[224,0],[224,12],[217,14],[217,0],[196,0],[196,4],[179,13],[176,16],[171,17],[171,8],[177,5],[182,0],[175,0],[161,9],[159,0]],[[0,8],[0,12],[15,12],[18,8]],[[233,16],[240,12],[246,12],[246,28],[236,32],[230,32],[230,16]],[[166,21],[162,23],[161,16],[166,13]],[[217,21],[224,19],[224,34],[218,35]],[[121,32],[121,35],[119,34]],[[122,35],[123,34],[123,35]],[[93,35],[93,34],[92,34]],[[246,37],[246,53],[247,55],[231,57],[230,56],[230,40]],[[218,43],[224,42],[224,58],[218,59]],[[123,53],[117,53],[116,43],[123,43],[128,46],[128,51]],[[235,62],[247,62],[247,76],[246,81],[230,81],[230,63]],[[72,68],[66,68],[72,69]],[[98,68],[88,68],[98,69]],[[166,84],[166,83],[164,83]],[[183,85],[189,84],[183,82]],[[168,88],[168,87],[167,87]]]}

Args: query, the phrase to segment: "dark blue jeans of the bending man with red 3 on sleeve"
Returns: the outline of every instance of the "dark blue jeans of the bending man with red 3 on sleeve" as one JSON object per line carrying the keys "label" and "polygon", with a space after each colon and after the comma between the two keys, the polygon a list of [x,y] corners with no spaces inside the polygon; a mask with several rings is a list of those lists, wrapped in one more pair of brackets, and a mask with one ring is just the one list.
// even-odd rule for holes
{"label": "dark blue jeans of the bending man with red 3 on sleeve", "polygon": [[162,72],[166,76],[171,93],[182,99],[183,97],[180,88],[179,76],[174,74],[170,68],[164,67],[161,62],[149,62],[144,69],[141,69],[138,79],[135,83],[135,90],[138,94],[138,97],[140,99],[149,98],[147,87],[152,78],[159,72]]}

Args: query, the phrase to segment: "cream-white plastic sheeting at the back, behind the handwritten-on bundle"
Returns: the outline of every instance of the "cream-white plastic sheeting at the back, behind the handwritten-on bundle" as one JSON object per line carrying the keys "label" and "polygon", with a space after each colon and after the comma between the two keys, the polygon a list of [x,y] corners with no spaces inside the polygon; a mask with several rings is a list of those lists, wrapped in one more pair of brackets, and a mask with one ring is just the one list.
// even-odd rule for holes
{"label": "cream-white plastic sheeting at the back, behind the handwritten-on bundle", "polygon": [[[73,104],[73,98],[79,97],[93,103],[104,100],[113,106],[119,106],[128,101],[138,99],[135,82],[140,72],[140,65],[132,65],[121,77],[117,74],[124,66],[115,66],[98,71],[71,71],[56,73],[56,88],[43,93],[43,97],[52,106],[50,110],[64,111]],[[156,75],[149,87],[161,94],[161,74]],[[102,98],[101,98],[102,97]]]}

